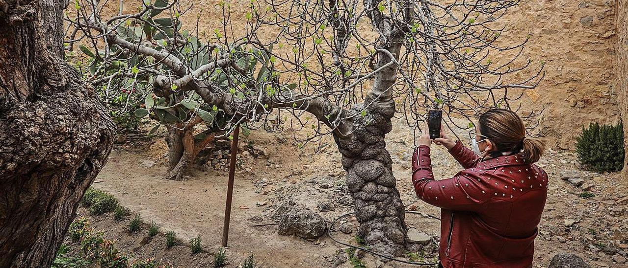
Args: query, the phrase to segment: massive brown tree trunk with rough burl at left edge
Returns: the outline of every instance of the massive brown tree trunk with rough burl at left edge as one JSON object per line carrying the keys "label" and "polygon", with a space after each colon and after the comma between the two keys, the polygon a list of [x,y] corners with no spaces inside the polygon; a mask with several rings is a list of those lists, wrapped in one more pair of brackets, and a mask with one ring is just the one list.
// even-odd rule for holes
{"label": "massive brown tree trunk with rough burl at left edge", "polygon": [[0,267],[50,267],[115,128],[63,61],[63,0],[0,1]]}

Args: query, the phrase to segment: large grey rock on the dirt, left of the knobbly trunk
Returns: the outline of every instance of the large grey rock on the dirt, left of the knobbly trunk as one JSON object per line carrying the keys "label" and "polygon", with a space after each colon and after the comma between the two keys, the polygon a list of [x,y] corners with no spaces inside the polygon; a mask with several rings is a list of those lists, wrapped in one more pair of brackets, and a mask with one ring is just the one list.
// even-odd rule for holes
{"label": "large grey rock on the dirt, left of the knobbly trunk", "polygon": [[295,207],[279,222],[278,234],[315,239],[325,234],[327,223],[316,212]]}

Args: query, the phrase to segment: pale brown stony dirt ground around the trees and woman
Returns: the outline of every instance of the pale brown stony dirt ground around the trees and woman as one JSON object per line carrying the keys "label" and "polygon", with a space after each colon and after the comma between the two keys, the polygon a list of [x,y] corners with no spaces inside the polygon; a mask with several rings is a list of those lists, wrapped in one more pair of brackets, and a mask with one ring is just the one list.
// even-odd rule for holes
{"label": "pale brown stony dirt ground around the trees and woman", "polygon": [[[406,214],[406,224],[436,241],[440,222],[428,215],[438,217],[440,210],[414,196],[409,179],[413,136],[411,130],[400,125],[403,124],[394,124],[393,131],[386,137],[394,175],[406,208],[424,214]],[[461,138],[466,137],[460,134]],[[278,235],[277,225],[252,226],[273,223],[274,205],[286,198],[316,212],[320,202],[331,202],[335,207],[333,211],[320,212],[328,221],[352,211],[353,201],[344,184],[340,154],[331,138],[325,138],[320,145],[322,149],[317,152],[317,145],[298,149],[292,135],[290,131],[281,134],[254,131],[249,137],[241,137],[241,161],[236,173],[227,249],[232,267],[237,267],[251,253],[263,267],[333,267],[338,264],[352,267],[350,261],[343,262],[345,247],[333,242],[328,235],[306,240]],[[162,232],[174,230],[181,241],[200,235],[203,249],[208,253],[191,255],[189,249],[183,250],[182,246],[183,249],[166,250],[163,237],[147,240],[145,232],[127,234],[127,223],[115,222],[112,217],[95,217],[92,224],[104,229],[106,237],[117,239],[122,250],[138,257],[163,258],[181,267],[210,266],[211,252],[217,250],[222,239],[227,192],[224,166],[212,164],[205,168],[207,171],[193,168],[185,182],[165,180],[163,138],[132,140],[117,145],[93,187],[112,193],[122,205],[141,214],[144,222],[154,220]],[[143,145],[134,145],[136,143]],[[432,148],[437,148],[432,153],[436,177],[445,178],[460,170],[446,150],[436,145]],[[227,153],[224,152],[225,157]],[[583,257],[593,267],[625,267],[628,188],[620,174],[583,171],[571,152],[548,150],[539,165],[548,172],[551,184],[536,239],[534,266],[547,267],[553,255],[570,252]],[[583,186],[576,187],[561,180],[560,173],[565,171],[577,173],[584,180]],[[583,188],[590,188],[589,192],[595,197],[580,197],[580,193],[585,192]],[[80,214],[86,215],[84,210]],[[357,226],[355,219],[343,220],[340,224],[350,229]],[[354,240],[353,234],[334,232],[333,236],[347,242]],[[395,262],[383,263],[368,254],[363,259],[367,267],[408,267]]]}

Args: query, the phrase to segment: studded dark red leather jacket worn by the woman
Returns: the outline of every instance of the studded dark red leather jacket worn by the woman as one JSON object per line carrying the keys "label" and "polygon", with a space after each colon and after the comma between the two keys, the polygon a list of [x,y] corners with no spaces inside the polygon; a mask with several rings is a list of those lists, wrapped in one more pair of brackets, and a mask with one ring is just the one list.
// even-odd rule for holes
{"label": "studded dark red leather jacket worn by the woman", "polygon": [[416,195],[440,207],[443,267],[532,267],[548,177],[521,154],[480,162],[460,141],[449,150],[465,170],[434,180],[430,148],[414,150]]}

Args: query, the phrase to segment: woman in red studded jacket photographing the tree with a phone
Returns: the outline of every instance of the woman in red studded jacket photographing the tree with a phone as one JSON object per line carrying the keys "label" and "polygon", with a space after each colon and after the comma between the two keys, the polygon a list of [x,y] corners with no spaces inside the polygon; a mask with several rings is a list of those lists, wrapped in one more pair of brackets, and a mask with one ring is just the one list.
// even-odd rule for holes
{"label": "woman in red studded jacket photographing the tree with a phone", "polygon": [[534,162],[544,145],[526,137],[516,113],[490,110],[470,131],[474,150],[441,130],[433,140],[446,147],[465,170],[435,180],[430,136],[414,150],[416,195],[440,207],[442,267],[532,267],[534,238],[547,197],[547,174]]}

